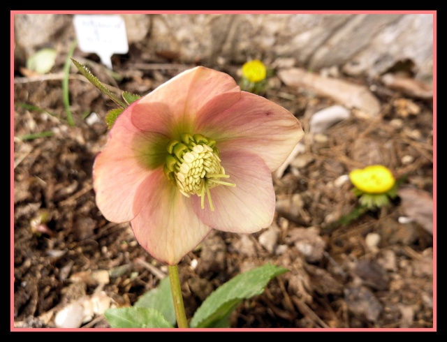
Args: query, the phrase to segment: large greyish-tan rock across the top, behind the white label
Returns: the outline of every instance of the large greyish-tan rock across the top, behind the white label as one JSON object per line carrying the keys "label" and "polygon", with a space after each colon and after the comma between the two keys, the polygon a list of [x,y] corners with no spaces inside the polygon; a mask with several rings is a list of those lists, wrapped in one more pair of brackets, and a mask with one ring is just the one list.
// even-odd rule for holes
{"label": "large greyish-tan rock across the top, behind the white label", "polygon": [[[129,43],[172,52],[184,63],[267,63],[291,57],[313,69],[339,66],[352,75],[381,75],[410,61],[430,79],[432,14],[126,14]],[[16,14],[15,53],[29,57],[61,37],[74,38],[73,15]],[[67,47],[68,48],[68,47]],[[22,59],[23,59],[22,58]],[[20,58],[16,57],[16,60]]]}

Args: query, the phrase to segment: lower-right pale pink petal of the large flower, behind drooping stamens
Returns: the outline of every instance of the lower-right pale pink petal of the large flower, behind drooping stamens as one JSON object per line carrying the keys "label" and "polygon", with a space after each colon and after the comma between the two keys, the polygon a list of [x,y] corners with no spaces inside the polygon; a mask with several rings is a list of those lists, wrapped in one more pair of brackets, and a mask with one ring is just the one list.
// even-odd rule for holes
{"label": "lower-right pale pink petal of the large flower, behind drooping stamens", "polygon": [[206,225],[226,232],[251,233],[270,226],[274,216],[272,172],[264,161],[244,151],[222,152],[221,165],[235,187],[219,185],[210,190],[214,211],[205,198],[193,196],[196,214]]}

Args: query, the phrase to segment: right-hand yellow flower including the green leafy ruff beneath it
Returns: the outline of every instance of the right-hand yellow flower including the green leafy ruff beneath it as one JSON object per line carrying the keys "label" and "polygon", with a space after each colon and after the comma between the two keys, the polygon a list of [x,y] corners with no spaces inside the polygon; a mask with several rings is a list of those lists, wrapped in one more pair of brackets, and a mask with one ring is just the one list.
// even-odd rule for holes
{"label": "right-hand yellow flower including the green leafy ruff beneath it", "polygon": [[369,165],[349,173],[354,193],[360,204],[374,209],[388,205],[389,198],[397,196],[397,186],[393,173],[383,165]]}

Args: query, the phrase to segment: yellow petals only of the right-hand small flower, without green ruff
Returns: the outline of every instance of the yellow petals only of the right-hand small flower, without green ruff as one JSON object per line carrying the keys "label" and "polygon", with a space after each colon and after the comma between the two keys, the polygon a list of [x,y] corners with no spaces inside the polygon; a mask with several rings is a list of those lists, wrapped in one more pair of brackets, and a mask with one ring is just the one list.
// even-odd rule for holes
{"label": "yellow petals only of the right-hand small flower, without green ruff", "polygon": [[383,165],[370,165],[364,169],[353,170],[349,173],[349,178],[358,190],[372,194],[386,193],[395,184],[393,174]]}

